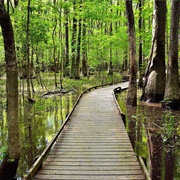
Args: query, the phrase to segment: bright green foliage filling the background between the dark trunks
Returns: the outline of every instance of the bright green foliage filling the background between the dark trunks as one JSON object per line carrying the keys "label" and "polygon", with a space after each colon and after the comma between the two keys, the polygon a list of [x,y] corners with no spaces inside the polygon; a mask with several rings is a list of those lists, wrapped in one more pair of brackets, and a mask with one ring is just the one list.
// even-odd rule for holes
{"label": "bright green foliage filling the background between the dark trunks", "polygon": [[[53,48],[55,48],[55,58],[64,57],[66,18],[69,20],[69,41],[72,36],[72,18],[75,15],[77,20],[83,19],[87,27],[87,46],[88,46],[88,65],[97,67],[99,63],[109,62],[112,49],[112,62],[123,63],[123,52],[128,48],[127,41],[127,20],[125,16],[124,1],[109,0],[85,0],[80,5],[76,1],[76,12],[73,11],[73,1],[59,0],[56,2],[32,0],[30,7],[30,48],[36,49],[37,54],[41,54],[39,61],[49,64],[52,62]],[[139,9],[138,0],[133,1],[133,10],[135,14],[136,36],[142,36],[143,56],[149,56],[152,39],[152,15],[153,1],[144,0],[142,6],[143,27],[141,31],[138,28]],[[81,8],[81,10],[80,10]],[[170,29],[170,0],[167,1],[167,35]],[[67,11],[65,17],[64,11]],[[17,8],[10,10],[13,21],[15,39],[17,46],[18,60],[23,60],[26,53],[26,19],[27,19],[27,1],[19,3]],[[112,32],[110,33],[110,24]],[[55,26],[57,27],[55,28]],[[53,45],[52,33],[55,28],[55,45]],[[69,43],[70,43],[69,42]],[[71,43],[70,43],[71,44]],[[139,44],[137,38],[137,45]],[[71,46],[69,47],[69,50]],[[138,50],[138,46],[137,46]],[[60,55],[57,54],[60,53]],[[117,53],[118,52],[118,53]],[[4,61],[4,51],[2,35],[0,34],[0,62]],[[71,57],[71,51],[70,51]],[[36,59],[34,57],[34,59]],[[35,63],[34,63],[35,64]]]}

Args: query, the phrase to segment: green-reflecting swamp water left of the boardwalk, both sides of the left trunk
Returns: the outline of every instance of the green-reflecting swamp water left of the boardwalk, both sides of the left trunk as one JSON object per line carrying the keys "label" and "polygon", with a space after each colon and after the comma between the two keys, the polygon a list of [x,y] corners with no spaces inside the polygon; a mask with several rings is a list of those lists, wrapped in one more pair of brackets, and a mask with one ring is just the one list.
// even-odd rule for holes
{"label": "green-reflecting swamp water left of the boardwalk, both sides of the left trunk", "polygon": [[[2,86],[0,87],[2,88]],[[4,91],[1,89],[1,92]],[[36,93],[35,103],[19,96],[19,121],[22,142],[21,158],[18,166],[18,180],[23,179],[35,159],[43,152],[58,132],[66,116],[72,110],[82,88],[63,96],[40,98]],[[0,94],[0,162],[7,147],[7,121],[5,93]]]}

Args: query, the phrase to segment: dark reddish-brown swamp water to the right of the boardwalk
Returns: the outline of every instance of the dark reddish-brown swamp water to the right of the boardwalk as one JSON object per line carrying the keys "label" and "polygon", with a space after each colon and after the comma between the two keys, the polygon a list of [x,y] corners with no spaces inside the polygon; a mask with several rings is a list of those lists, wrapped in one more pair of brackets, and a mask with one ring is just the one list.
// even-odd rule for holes
{"label": "dark reddish-brown swamp water to the right of the boardwalk", "polygon": [[136,155],[144,159],[152,180],[180,180],[180,111],[144,102],[127,107],[126,94],[117,99]]}

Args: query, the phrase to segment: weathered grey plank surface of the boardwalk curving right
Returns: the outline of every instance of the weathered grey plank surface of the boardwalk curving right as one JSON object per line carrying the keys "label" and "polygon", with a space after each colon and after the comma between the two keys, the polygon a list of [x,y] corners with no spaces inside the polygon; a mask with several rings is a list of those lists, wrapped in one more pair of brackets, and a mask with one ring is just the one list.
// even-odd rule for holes
{"label": "weathered grey plank surface of the boardwalk curving right", "polygon": [[145,179],[112,95],[115,87],[83,95],[35,179]]}

